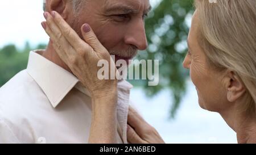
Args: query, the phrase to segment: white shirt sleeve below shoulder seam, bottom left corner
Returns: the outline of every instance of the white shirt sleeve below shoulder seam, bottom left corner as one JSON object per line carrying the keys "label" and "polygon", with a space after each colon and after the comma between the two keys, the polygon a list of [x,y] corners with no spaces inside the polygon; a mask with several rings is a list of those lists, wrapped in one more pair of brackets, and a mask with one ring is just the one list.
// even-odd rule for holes
{"label": "white shirt sleeve below shoulder seam, bottom left corner", "polygon": [[9,125],[0,118],[0,144],[19,144],[19,140],[14,135]]}

